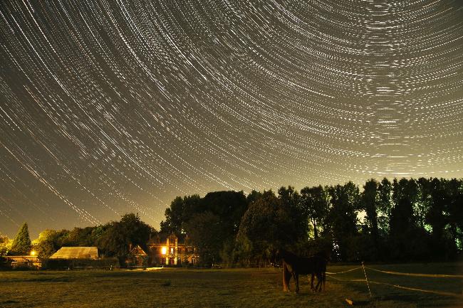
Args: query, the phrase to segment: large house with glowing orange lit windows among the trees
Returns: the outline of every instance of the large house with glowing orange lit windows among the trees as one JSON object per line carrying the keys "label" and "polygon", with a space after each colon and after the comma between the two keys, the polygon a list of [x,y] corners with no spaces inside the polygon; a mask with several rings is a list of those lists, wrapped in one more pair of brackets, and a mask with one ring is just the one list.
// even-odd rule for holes
{"label": "large house with glowing orange lit windows among the trees", "polygon": [[155,265],[188,265],[198,260],[196,249],[191,245],[188,236],[174,233],[163,238],[157,235],[150,238],[148,247],[148,264]]}

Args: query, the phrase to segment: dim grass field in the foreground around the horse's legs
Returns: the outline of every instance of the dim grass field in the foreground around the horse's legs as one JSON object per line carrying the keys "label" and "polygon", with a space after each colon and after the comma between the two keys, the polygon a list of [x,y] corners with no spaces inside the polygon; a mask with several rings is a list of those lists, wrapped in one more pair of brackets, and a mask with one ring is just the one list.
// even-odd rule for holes
{"label": "dim grass field in the foreground around the horse's legs", "polygon": [[[331,266],[340,272],[353,265]],[[462,275],[462,264],[376,265],[395,272]],[[442,295],[370,284],[363,271],[331,275],[321,294],[301,278],[299,294],[284,293],[279,269],[152,271],[0,272],[0,307],[463,307],[463,279],[387,275],[367,271],[368,280],[435,290]],[[334,279],[335,277],[336,279]],[[342,281],[341,281],[342,280]],[[291,291],[294,290],[291,281]]]}

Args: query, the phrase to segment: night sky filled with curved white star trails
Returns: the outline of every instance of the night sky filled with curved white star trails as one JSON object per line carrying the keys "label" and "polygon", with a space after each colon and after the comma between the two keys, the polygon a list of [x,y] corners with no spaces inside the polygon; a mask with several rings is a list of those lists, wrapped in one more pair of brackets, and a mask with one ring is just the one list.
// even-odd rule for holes
{"label": "night sky filled with curved white star trails", "polygon": [[463,177],[460,1],[0,3],[0,232]]}

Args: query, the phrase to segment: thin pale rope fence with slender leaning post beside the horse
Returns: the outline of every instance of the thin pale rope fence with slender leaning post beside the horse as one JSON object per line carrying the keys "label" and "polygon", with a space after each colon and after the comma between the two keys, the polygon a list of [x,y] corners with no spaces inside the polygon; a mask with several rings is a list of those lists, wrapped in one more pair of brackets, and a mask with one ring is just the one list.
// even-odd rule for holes
{"label": "thin pale rope fence with slender leaning post beside the horse", "polygon": [[[365,274],[365,279],[351,279],[351,280],[345,280],[345,279],[340,279],[338,277],[334,277],[333,275],[338,275],[338,274],[345,274],[347,272],[353,272],[355,270],[362,270],[363,273]],[[461,294],[459,293],[452,293],[452,292],[444,292],[444,291],[436,291],[436,290],[425,290],[425,289],[420,289],[417,287],[404,287],[402,285],[394,285],[390,284],[387,282],[377,282],[377,281],[372,281],[368,280],[368,277],[366,275],[365,270],[372,270],[374,272],[382,272],[384,274],[389,274],[389,275],[401,275],[401,276],[412,276],[412,277],[433,277],[433,278],[463,278],[463,275],[443,275],[443,274],[420,274],[420,273],[411,273],[411,272],[391,272],[387,270],[377,270],[372,267],[366,267],[366,266],[360,266],[360,267],[354,267],[351,268],[350,270],[344,270],[342,272],[326,272],[326,276],[330,277],[333,280],[337,280],[340,282],[365,282],[368,285],[368,292],[370,292],[370,285],[387,285],[389,287],[395,287],[397,289],[402,289],[402,290],[410,290],[410,291],[417,291],[417,292],[425,292],[425,293],[432,293],[432,294],[439,294],[439,295],[444,295],[444,296],[450,296],[450,297],[463,297],[463,292]],[[371,297],[371,292],[370,292],[370,297]]]}

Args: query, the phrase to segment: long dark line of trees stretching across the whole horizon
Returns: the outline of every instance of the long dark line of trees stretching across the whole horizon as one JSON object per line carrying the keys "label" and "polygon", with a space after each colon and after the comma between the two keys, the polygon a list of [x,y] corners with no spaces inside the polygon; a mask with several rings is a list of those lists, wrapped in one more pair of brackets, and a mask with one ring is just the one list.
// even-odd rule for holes
{"label": "long dark line of trees stretching across the whole horizon", "polygon": [[73,230],[44,230],[36,240],[23,225],[14,240],[0,235],[0,255],[62,246],[96,246],[121,264],[128,247],[150,236],[187,233],[202,265],[264,265],[270,251],[325,252],[333,262],[454,260],[463,243],[463,179],[370,179],[343,185],[292,186],[274,191],[214,191],[178,196],[160,231],[133,214]]}

